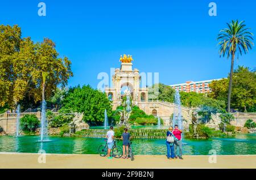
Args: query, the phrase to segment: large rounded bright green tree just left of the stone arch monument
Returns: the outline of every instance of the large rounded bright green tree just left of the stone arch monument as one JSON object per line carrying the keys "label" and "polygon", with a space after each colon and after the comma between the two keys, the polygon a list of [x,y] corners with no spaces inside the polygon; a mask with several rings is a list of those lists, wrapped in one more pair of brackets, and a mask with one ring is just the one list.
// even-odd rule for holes
{"label": "large rounded bright green tree just left of the stone arch monument", "polygon": [[70,88],[63,98],[63,106],[60,112],[84,112],[84,121],[95,122],[99,125],[104,122],[104,112],[108,117],[112,115],[111,102],[105,93],[91,88],[89,85]]}

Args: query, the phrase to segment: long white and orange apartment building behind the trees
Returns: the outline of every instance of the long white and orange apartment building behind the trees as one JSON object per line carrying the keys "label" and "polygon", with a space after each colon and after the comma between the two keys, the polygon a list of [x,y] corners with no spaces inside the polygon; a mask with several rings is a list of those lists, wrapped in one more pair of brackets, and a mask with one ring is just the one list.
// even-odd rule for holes
{"label": "long white and orange apartment building behind the trees", "polygon": [[179,92],[184,91],[184,92],[208,93],[210,92],[209,84],[213,80],[220,80],[220,79],[202,80],[199,82],[188,81],[181,84],[172,84],[170,86]]}

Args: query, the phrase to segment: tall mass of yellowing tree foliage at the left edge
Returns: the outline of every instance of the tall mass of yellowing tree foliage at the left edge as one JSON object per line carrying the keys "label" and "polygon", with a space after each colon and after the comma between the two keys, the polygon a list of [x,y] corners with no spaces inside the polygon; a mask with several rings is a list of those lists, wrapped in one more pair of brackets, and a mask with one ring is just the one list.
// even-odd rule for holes
{"label": "tall mass of yellowing tree foliage at the left edge", "polygon": [[42,72],[48,74],[46,98],[73,74],[71,61],[59,58],[52,40],[35,43],[21,35],[18,25],[0,25],[0,106],[20,102],[26,109],[42,101]]}

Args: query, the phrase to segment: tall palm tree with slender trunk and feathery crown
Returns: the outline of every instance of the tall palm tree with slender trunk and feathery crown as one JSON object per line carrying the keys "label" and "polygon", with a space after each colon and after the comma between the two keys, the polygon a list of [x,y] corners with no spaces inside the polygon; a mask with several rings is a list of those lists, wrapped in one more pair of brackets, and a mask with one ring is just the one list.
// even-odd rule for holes
{"label": "tall palm tree with slender trunk and feathery crown", "polygon": [[244,21],[232,20],[231,23],[226,23],[228,28],[222,29],[218,34],[217,40],[220,41],[220,57],[232,57],[231,68],[229,75],[229,91],[228,91],[228,112],[230,112],[230,98],[232,91],[232,77],[234,68],[234,58],[237,55],[249,52],[253,44],[253,33],[249,32],[250,28],[246,28]]}

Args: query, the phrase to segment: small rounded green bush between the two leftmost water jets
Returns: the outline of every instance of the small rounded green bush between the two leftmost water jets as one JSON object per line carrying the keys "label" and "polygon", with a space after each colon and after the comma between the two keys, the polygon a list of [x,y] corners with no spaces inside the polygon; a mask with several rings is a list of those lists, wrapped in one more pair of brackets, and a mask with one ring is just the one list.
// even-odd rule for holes
{"label": "small rounded green bush between the two leftmost water jets", "polygon": [[25,133],[35,132],[36,128],[40,127],[40,121],[35,115],[25,115],[20,118],[20,128]]}

